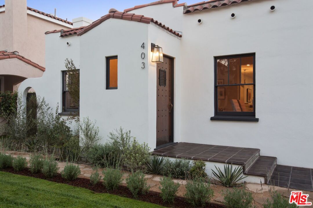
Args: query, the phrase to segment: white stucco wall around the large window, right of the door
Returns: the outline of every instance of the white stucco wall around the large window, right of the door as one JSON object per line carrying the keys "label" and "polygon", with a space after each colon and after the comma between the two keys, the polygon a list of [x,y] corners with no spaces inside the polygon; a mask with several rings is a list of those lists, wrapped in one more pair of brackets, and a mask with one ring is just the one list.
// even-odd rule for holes
{"label": "white stucco wall around the large window, right of the door", "polygon": [[[184,14],[182,141],[259,148],[278,164],[313,167],[312,9],[312,1],[262,0]],[[259,122],[210,121],[214,56],[242,53],[256,55]]]}

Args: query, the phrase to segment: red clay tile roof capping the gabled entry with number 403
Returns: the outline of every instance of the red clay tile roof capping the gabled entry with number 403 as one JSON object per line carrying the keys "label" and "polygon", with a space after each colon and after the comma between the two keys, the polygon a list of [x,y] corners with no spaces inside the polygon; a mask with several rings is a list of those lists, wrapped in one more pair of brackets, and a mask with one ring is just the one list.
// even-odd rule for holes
{"label": "red clay tile roof capping the gabled entry with number 403", "polygon": [[142,22],[142,23],[146,23],[146,24],[150,24],[150,22],[153,22],[156,25],[158,25],[158,26],[166,29],[167,31],[173,33],[174,35],[176,35],[178,37],[182,37],[182,35],[180,35],[178,32],[173,31],[169,27],[166,27],[161,22],[153,20],[153,18],[151,18],[151,17],[145,17],[143,15],[136,15],[136,14],[126,13],[126,12],[119,12],[116,9],[110,9],[108,14],[106,14],[105,16],[101,17],[100,19],[96,20],[95,22],[92,22],[90,25],[88,25],[87,27],[85,27],[81,31],[77,32],[77,35],[80,36],[80,35],[84,34],[85,32],[91,30],[92,28],[96,27],[101,22],[103,22],[109,18],[131,20],[131,21]]}

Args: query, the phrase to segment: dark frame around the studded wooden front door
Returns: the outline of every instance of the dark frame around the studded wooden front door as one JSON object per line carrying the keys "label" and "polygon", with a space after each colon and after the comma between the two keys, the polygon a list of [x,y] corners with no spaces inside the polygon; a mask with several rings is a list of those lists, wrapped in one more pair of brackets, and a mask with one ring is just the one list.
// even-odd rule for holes
{"label": "dark frame around the studded wooden front door", "polygon": [[[171,85],[171,88],[172,88],[172,93],[171,93],[171,97],[172,97],[172,104],[173,104],[173,108],[172,108],[172,113],[171,113],[171,131],[172,131],[172,137],[170,137],[170,139],[169,139],[169,142],[168,143],[165,143],[165,144],[162,144],[162,145],[159,145],[159,146],[156,146],[156,148],[157,147],[160,147],[160,146],[166,146],[167,144],[169,144],[169,143],[173,143],[174,142],[174,117],[175,117],[175,97],[174,97],[174,91],[175,91],[175,89],[174,89],[174,86],[175,86],[175,77],[174,77],[174,75],[175,75],[175,73],[174,73],[174,69],[175,69],[175,67],[174,67],[174,60],[175,60],[175,58],[174,57],[172,57],[172,56],[169,56],[169,55],[166,55],[166,54],[163,54],[163,56],[165,56],[165,57],[167,57],[167,58],[169,58],[169,59],[171,59],[171,64],[172,64],[172,66],[171,66],[171,77],[172,77],[172,85]],[[156,68],[157,69],[157,68]],[[156,84],[158,85],[158,80],[157,80],[157,73],[158,73],[158,71],[156,70]],[[156,99],[157,99],[157,97],[156,97]],[[157,101],[156,101],[157,102]],[[156,111],[157,111],[157,109],[156,109]],[[156,128],[156,132],[157,132],[157,128]],[[157,138],[156,138],[157,139]]]}

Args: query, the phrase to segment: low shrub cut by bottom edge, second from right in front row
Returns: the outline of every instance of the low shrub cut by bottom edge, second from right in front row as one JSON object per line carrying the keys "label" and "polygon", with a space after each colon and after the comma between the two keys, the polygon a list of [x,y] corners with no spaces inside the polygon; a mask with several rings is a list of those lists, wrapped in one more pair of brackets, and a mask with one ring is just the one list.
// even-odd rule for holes
{"label": "low shrub cut by bottom edge, second from right in front row", "polygon": [[244,189],[233,188],[223,192],[224,204],[228,208],[254,208],[252,193]]}

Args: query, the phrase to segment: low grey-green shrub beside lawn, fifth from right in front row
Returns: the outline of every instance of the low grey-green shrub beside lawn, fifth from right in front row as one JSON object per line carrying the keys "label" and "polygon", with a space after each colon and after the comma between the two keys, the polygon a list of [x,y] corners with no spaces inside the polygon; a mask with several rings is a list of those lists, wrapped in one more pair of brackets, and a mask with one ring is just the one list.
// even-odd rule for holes
{"label": "low grey-green shrub beside lawn, fifth from right in front row", "polygon": [[128,178],[126,178],[126,183],[127,188],[135,198],[137,198],[138,195],[145,194],[150,188],[150,186],[147,185],[145,174],[141,171],[133,172]]}

